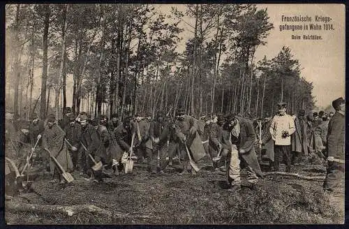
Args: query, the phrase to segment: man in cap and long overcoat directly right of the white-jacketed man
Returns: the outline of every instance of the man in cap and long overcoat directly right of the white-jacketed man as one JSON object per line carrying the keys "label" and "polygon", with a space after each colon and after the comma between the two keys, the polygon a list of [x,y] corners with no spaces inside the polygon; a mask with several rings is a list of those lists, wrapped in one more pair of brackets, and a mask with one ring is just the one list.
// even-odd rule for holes
{"label": "man in cap and long overcoat directly right of the white-jacketed man", "polygon": [[291,164],[297,163],[299,154],[308,154],[308,140],[306,138],[307,125],[304,119],[305,110],[299,110],[295,119],[295,134],[291,135]]}

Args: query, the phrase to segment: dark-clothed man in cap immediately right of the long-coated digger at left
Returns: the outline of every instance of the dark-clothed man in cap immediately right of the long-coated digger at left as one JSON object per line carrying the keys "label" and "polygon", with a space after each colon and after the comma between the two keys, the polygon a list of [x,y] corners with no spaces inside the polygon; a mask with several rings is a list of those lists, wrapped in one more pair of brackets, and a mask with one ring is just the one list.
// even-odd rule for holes
{"label": "dark-clothed man in cap immediately right of the long-coated digger at left", "polygon": [[73,161],[74,170],[78,170],[80,175],[82,175],[84,171],[84,158],[82,157],[83,149],[80,145],[81,126],[75,122],[75,115],[73,113],[67,114],[67,119],[69,124],[64,128],[66,140],[69,142],[67,147]]}

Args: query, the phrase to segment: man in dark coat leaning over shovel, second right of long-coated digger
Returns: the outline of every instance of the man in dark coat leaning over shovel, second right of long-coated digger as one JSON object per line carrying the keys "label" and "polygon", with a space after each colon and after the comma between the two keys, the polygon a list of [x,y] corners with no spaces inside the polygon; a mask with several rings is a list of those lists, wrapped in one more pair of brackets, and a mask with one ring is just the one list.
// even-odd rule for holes
{"label": "man in dark coat leaning over shovel, second right of long-coated digger", "polygon": [[[82,114],[80,116],[80,123],[82,126],[81,142],[82,142],[82,145],[84,145],[84,147],[86,147],[87,149],[85,150],[85,156],[87,156],[89,160],[88,168],[91,168],[91,166],[94,165],[89,158],[89,154],[91,154],[91,156],[94,157],[94,160],[96,161],[96,163],[101,161],[101,163],[104,164],[106,162],[105,147],[103,145],[103,142],[100,136],[96,131],[96,128],[91,124],[89,124],[87,120],[87,115],[85,114]],[[96,172],[96,171],[94,172],[93,170],[91,170],[91,172],[92,172],[91,177],[96,178],[95,181],[97,182],[103,181],[103,179],[101,179],[100,177],[99,172]]]}

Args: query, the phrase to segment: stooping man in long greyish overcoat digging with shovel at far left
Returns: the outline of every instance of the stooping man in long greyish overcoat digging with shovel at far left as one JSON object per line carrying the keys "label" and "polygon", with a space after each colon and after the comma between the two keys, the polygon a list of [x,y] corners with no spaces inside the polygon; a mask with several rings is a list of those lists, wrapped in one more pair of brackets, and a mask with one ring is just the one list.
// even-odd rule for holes
{"label": "stooping man in long greyish overcoat digging with shovel at far left", "polygon": [[[57,159],[61,167],[67,172],[73,170],[73,161],[71,161],[66,142],[64,141],[66,133],[56,123],[54,114],[47,116],[45,131],[43,133],[43,148],[48,149],[51,156]],[[50,160],[50,170],[52,175],[52,182],[57,182],[54,177],[58,176],[59,182],[64,183],[61,179],[61,170],[54,161]]]}

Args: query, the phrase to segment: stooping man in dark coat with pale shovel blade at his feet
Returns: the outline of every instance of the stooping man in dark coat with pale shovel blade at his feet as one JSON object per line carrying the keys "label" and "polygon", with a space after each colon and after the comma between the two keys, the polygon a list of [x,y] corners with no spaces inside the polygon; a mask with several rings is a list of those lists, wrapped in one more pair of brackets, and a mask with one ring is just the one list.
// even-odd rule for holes
{"label": "stooping man in dark coat with pale shovel blade at his feet", "polygon": [[[125,117],[121,125],[114,130],[114,136],[117,141],[116,149],[112,156],[112,169],[121,170],[127,163],[127,158],[131,152],[132,135],[134,126],[131,125],[131,117]],[[135,137],[134,137],[135,138]]]}

